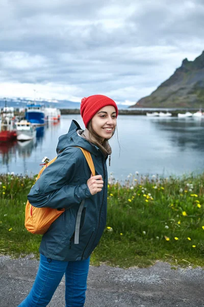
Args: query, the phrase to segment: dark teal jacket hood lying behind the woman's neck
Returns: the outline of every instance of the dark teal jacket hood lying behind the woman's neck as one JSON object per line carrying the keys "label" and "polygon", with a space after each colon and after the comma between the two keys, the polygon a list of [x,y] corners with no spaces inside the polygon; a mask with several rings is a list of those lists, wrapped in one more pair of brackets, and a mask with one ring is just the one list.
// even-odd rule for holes
{"label": "dark teal jacket hood lying behind the woman's neck", "polygon": [[59,137],[59,142],[56,149],[57,154],[69,146],[79,146],[93,153],[93,155],[95,156],[98,155],[99,148],[97,148],[95,145],[90,144],[90,142],[85,140],[84,138],[80,137],[77,134],[77,130],[79,129],[81,129],[81,127],[78,122],[72,120],[68,133]]}

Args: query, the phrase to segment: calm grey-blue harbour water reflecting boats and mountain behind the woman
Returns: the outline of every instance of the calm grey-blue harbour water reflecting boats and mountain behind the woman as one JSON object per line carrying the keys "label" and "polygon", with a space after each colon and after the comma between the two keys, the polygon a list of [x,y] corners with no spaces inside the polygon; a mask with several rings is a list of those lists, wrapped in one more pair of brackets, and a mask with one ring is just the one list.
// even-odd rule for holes
{"label": "calm grey-blue harbour water reflecting boats and mountain behind the woman", "polygon": [[[84,127],[80,115],[64,115],[57,124],[39,127],[35,141],[0,144],[0,172],[36,174],[44,156],[56,156],[58,138],[66,134],[71,120]],[[129,173],[171,174],[202,172],[204,170],[203,118],[148,118],[119,116],[117,137],[110,140],[111,166],[116,179]]]}

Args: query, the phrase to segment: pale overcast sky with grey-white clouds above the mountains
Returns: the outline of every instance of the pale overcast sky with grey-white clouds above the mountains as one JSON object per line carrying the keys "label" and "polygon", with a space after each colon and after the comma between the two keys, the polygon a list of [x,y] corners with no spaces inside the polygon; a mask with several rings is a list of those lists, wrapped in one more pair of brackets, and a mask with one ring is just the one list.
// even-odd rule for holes
{"label": "pale overcast sky with grey-white clouds above the mountains", "polygon": [[0,97],[132,105],[204,50],[203,0],[1,0]]}

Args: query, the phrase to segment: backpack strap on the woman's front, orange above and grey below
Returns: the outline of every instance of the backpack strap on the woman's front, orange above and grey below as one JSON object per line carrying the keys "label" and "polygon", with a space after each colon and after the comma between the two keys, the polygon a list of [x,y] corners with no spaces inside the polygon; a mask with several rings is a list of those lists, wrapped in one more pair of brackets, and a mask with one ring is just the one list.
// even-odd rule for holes
{"label": "backpack strap on the woman's front, orange above and grey below", "polygon": [[[89,168],[91,170],[91,173],[93,176],[95,176],[95,168],[94,168],[94,164],[93,164],[93,160],[91,158],[91,153],[89,151],[87,151],[86,149],[79,147],[79,146],[75,146],[78,147],[82,150],[82,152],[84,153],[84,156],[86,158],[86,161],[89,165]],[[75,224],[75,233],[74,233],[74,244],[79,244],[79,237],[80,237],[80,222],[81,222],[81,217],[82,217],[82,210],[84,208],[84,203],[85,200],[82,200],[78,213],[77,213],[77,220],[76,220],[76,224]]]}

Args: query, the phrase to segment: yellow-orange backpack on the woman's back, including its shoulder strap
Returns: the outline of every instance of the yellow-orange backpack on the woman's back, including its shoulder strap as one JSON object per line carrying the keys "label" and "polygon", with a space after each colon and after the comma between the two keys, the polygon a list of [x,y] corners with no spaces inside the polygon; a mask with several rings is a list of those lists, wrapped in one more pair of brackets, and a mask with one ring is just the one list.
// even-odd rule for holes
{"label": "yellow-orange backpack on the woman's back, including its shoulder strap", "polygon": [[[78,148],[80,148],[84,153],[84,156],[90,167],[90,170],[93,176],[95,176],[94,164],[90,152],[84,148],[81,147]],[[40,175],[43,172],[43,170],[47,166],[55,162],[56,159],[57,157],[55,157],[53,160],[45,164],[45,166],[39,171],[36,181],[40,178]],[[37,208],[32,206],[29,203],[29,201],[27,201],[27,204],[25,205],[25,228],[33,234],[43,234],[47,231],[49,226],[56,220],[56,218],[58,218],[58,216],[60,216],[64,211],[65,209],[57,210],[48,207]]]}

